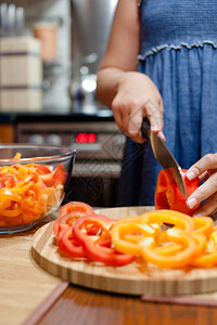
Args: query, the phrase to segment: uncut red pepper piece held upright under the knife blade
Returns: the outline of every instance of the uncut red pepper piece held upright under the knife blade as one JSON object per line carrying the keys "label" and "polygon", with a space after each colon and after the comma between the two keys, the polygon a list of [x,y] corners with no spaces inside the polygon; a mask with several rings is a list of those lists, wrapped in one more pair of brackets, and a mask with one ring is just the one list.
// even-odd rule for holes
{"label": "uncut red pepper piece held upright under the knife blade", "polygon": [[[187,169],[182,169],[183,181],[187,188],[187,196],[190,196],[200,184],[200,179],[196,178],[190,181],[186,176]],[[192,216],[200,205],[190,209],[186,205],[186,198],[175,184],[169,169],[163,169],[158,173],[156,190],[155,190],[155,208],[176,210],[189,216]]]}

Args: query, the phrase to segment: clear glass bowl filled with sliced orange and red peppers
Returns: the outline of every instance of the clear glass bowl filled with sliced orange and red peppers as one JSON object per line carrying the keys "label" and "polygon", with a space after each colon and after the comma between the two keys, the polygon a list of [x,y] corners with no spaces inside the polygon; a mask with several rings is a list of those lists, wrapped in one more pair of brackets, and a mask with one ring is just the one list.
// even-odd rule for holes
{"label": "clear glass bowl filled with sliced orange and red peppers", "polygon": [[0,234],[26,231],[60,207],[75,156],[65,146],[0,145]]}

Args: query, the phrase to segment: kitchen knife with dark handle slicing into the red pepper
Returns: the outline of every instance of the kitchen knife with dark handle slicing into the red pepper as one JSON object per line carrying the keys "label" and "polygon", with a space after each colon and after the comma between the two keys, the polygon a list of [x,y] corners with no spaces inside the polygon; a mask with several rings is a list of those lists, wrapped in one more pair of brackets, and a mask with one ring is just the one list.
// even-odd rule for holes
{"label": "kitchen knife with dark handle slicing into the red pepper", "polygon": [[143,118],[141,133],[144,139],[150,141],[154,157],[164,169],[170,170],[174,182],[182,195],[187,198],[187,190],[182,178],[181,167],[178,165],[177,160],[157,133],[151,132],[150,121],[148,118]]}

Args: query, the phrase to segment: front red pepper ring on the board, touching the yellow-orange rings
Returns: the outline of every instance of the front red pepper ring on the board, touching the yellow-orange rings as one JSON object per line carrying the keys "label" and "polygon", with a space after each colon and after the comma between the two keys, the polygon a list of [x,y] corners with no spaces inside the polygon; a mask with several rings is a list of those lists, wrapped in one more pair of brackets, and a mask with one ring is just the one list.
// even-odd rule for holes
{"label": "front red pepper ring on the board, touching the yellow-orange rings", "polygon": [[[73,227],[74,237],[86,251],[90,260],[103,262],[107,265],[120,266],[133,261],[135,257],[127,253],[118,252],[113,248],[111,237],[111,229],[116,220],[112,220],[101,214],[90,214],[79,218]],[[91,225],[99,227],[99,234],[89,235]],[[104,238],[106,238],[104,240]],[[108,245],[110,243],[110,245]],[[107,247],[108,246],[108,247]]]}

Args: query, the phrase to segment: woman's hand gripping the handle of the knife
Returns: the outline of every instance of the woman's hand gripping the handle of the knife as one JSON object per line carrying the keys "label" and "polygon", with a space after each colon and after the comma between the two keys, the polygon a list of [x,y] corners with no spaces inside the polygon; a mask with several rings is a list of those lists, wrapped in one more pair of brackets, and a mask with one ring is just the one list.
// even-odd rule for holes
{"label": "woman's hand gripping the handle of the knife", "polygon": [[149,118],[151,131],[158,132],[165,140],[162,132],[163,100],[156,86],[148,76],[137,72],[123,73],[111,107],[119,129],[133,141],[139,143],[144,141],[141,135],[143,117]]}

